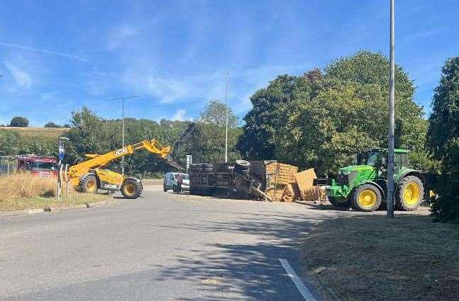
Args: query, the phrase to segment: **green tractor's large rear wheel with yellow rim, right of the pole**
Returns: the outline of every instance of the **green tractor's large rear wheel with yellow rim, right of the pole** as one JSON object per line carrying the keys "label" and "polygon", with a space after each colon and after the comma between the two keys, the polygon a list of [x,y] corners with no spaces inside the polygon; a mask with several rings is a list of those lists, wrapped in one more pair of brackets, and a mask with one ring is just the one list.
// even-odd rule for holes
{"label": "green tractor's large rear wheel with yellow rim, right of the pole", "polygon": [[407,176],[400,181],[395,204],[403,210],[416,210],[424,197],[424,185],[417,176]]}

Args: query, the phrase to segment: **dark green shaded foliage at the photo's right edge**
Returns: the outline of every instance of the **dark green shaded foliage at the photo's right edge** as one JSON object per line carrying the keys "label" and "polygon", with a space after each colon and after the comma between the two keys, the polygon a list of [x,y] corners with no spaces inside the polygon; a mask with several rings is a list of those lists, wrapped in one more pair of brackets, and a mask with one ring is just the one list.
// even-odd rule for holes
{"label": "dark green shaded foliage at the photo's right edge", "polygon": [[428,146],[441,160],[438,193],[433,214],[443,222],[459,222],[459,57],[443,66],[433,96]]}

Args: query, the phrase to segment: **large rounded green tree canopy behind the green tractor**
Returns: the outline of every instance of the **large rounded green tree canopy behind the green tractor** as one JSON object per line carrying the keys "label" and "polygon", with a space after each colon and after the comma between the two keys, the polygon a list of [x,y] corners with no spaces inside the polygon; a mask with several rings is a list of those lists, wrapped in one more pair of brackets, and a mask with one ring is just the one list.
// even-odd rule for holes
{"label": "large rounded green tree canopy behind the green tractor", "polygon": [[[239,150],[249,159],[278,159],[325,174],[351,164],[360,149],[387,147],[388,74],[386,57],[358,52],[332,62],[324,74],[279,76],[251,97]],[[431,166],[413,82],[401,67],[395,77],[396,147],[412,150],[416,166]]]}

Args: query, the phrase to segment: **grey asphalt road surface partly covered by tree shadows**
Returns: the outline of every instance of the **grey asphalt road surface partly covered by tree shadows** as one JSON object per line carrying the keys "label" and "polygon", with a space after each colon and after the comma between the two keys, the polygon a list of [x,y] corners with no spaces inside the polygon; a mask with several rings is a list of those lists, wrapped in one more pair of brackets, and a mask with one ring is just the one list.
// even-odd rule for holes
{"label": "grey asphalt road surface partly covered by tree shadows", "polygon": [[302,237],[333,213],[160,188],[0,217],[0,300],[304,300],[278,259],[301,276]]}

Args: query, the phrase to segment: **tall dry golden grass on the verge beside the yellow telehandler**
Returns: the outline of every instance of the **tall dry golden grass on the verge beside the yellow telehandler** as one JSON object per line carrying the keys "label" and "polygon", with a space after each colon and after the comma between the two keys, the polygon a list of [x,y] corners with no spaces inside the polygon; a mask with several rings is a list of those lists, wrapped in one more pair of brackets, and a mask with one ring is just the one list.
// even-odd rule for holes
{"label": "tall dry golden grass on the verge beside the yellow telehandler", "polygon": [[30,174],[0,176],[0,212],[61,207],[94,203],[109,198],[108,195],[77,193],[69,188],[69,196],[56,198],[56,179],[40,178]]}

